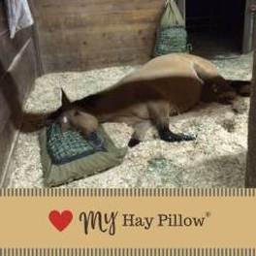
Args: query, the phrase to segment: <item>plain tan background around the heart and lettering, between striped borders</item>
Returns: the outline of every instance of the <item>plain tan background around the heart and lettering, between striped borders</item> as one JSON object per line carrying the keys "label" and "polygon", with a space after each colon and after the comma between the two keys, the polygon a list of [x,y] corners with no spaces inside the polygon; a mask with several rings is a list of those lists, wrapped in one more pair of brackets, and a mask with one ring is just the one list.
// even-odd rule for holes
{"label": "plain tan background around the heart and lettering, between striped borders", "polygon": [[[254,197],[30,197],[0,198],[0,247],[252,247],[255,245]],[[52,209],[71,209],[74,220],[63,232],[48,221]],[[92,231],[85,236],[79,221],[81,211],[118,210],[115,236]],[[155,216],[182,213],[202,217],[202,228],[122,227],[122,213]]]}

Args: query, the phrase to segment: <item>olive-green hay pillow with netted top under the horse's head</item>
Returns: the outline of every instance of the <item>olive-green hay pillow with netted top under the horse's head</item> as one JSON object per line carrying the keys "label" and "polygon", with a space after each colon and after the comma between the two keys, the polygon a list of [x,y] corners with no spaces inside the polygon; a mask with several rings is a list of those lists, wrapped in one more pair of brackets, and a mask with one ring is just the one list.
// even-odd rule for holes
{"label": "olive-green hay pillow with netted top under the horse's head", "polygon": [[103,127],[85,140],[79,132],[62,133],[58,125],[52,124],[42,131],[39,139],[44,180],[48,187],[117,166],[127,150],[116,147]]}

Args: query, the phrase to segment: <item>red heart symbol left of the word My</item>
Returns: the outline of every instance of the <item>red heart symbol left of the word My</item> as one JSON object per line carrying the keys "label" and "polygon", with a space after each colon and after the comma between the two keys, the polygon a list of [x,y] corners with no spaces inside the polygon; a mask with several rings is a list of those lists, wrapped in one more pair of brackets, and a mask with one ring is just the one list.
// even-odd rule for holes
{"label": "red heart symbol left of the word My", "polygon": [[48,214],[48,219],[51,224],[58,230],[63,231],[71,223],[73,219],[72,211],[66,209],[61,213],[58,210],[51,210]]}

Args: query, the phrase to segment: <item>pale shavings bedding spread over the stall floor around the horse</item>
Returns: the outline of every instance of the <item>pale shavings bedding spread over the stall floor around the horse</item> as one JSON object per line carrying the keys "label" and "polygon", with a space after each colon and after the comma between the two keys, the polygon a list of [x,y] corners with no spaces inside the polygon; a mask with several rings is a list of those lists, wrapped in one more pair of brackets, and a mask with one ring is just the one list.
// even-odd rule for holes
{"label": "pale shavings bedding spread over the stall floor around the horse", "polygon": [[[133,69],[44,76],[36,81],[25,110],[54,110],[60,104],[60,87],[75,100],[112,85]],[[248,105],[248,98],[238,98],[233,107],[201,104],[172,117],[170,122],[174,132],[197,135],[196,141],[165,143],[150,129],[144,143],[129,148],[120,166],[63,187],[242,187]],[[130,127],[111,123],[104,126],[117,146],[128,143]],[[38,133],[20,134],[11,169],[10,187],[43,187]]]}

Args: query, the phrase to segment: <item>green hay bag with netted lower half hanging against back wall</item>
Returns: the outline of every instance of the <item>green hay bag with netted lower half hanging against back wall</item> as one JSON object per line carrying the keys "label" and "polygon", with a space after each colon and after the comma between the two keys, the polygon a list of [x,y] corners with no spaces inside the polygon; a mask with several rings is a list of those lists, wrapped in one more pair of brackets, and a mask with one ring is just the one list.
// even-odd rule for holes
{"label": "green hay bag with netted lower half hanging against back wall", "polygon": [[181,16],[175,0],[167,0],[165,12],[161,18],[160,27],[156,35],[154,56],[172,52],[190,51],[187,44],[185,21]]}

